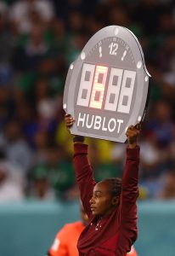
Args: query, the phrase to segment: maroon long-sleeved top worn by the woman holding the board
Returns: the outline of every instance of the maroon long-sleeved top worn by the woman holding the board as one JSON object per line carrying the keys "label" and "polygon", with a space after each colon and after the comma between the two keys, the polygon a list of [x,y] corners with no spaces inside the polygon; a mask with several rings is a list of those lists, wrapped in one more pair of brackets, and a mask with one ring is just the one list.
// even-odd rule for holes
{"label": "maroon long-sleeved top worn by the woman holding the board", "polygon": [[82,204],[90,223],[78,240],[80,255],[126,256],[137,238],[138,163],[139,147],[127,148],[127,161],[122,177],[120,205],[102,218],[94,217],[90,209],[93,187],[93,170],[88,161],[88,145],[74,144],[76,180]]}

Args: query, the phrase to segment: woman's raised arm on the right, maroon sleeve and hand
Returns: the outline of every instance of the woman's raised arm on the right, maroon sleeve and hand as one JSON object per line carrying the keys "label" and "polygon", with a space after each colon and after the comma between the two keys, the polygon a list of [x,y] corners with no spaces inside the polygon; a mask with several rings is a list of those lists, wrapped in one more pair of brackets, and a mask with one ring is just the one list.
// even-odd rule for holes
{"label": "woman's raised arm on the right, maroon sleeve and hand", "polygon": [[121,222],[127,230],[127,238],[131,243],[137,238],[137,205],[138,198],[138,165],[139,147],[137,138],[140,133],[140,125],[130,126],[127,129],[127,160],[122,177],[122,207]]}

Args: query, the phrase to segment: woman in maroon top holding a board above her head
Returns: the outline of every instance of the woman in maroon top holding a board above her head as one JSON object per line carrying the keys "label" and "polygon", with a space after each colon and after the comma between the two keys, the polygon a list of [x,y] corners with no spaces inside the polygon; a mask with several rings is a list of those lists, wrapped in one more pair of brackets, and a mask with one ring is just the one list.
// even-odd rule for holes
{"label": "woman in maroon top holding a board above her head", "polygon": [[[65,114],[68,129],[74,121],[70,114]],[[80,256],[126,256],[137,239],[139,132],[140,124],[127,129],[127,160],[122,179],[106,178],[99,183],[93,179],[84,137],[73,138],[76,181],[90,220],[77,243]]]}

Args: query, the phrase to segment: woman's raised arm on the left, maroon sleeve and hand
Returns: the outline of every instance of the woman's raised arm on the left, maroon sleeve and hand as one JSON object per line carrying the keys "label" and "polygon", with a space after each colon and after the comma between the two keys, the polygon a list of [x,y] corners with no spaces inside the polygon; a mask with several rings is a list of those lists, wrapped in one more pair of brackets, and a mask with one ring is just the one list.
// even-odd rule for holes
{"label": "woman's raised arm on the left, maroon sleeve and hand", "polygon": [[[65,125],[69,129],[73,125],[74,119],[69,114],[65,114]],[[76,171],[76,182],[80,189],[80,195],[85,212],[88,218],[92,217],[89,201],[93,195],[95,181],[93,179],[93,169],[88,160],[88,145],[84,143],[84,137],[75,136],[74,141],[74,168]]]}

